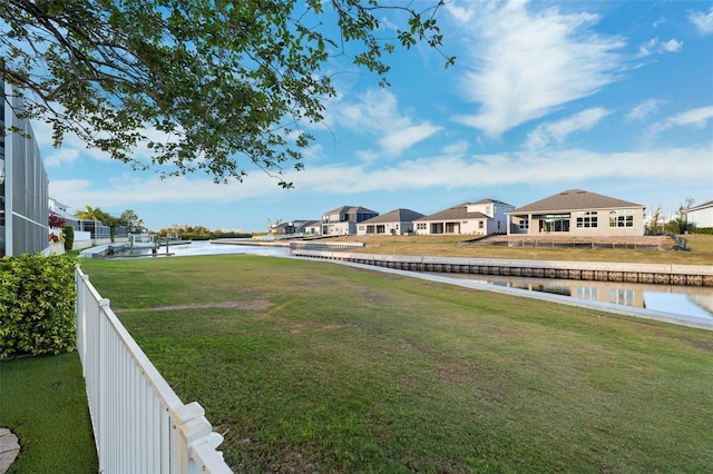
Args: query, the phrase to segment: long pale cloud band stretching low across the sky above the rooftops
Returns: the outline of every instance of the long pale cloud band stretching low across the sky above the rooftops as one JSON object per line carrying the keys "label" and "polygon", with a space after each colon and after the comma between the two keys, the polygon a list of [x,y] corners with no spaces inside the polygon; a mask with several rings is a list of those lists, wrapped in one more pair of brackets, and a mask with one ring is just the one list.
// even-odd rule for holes
{"label": "long pale cloud band stretching low across the sky above the rooftops", "polygon": [[[713,113],[713,111],[712,111]],[[682,122],[694,119],[680,118]],[[207,176],[159,179],[124,174],[108,182],[70,179],[50,182],[50,195],[74,209],[85,205],[104,209],[141,209],[149,205],[235,205],[244,199],[263,203],[285,199],[290,192],[301,197],[340,196],[360,192],[413,191],[419,189],[473,189],[478,187],[561,185],[563,189],[595,179],[678,180],[705,182],[710,176],[701,169],[710,167],[713,147],[658,148],[654,150],[592,152],[585,149],[524,150],[490,155],[472,155],[463,142],[457,142],[436,156],[401,162],[334,164],[309,167],[284,177],[295,189],[280,188],[274,178],[252,174],[244,182],[216,185]],[[655,164],[656,166],[652,166]],[[403,204],[406,205],[406,204]]]}

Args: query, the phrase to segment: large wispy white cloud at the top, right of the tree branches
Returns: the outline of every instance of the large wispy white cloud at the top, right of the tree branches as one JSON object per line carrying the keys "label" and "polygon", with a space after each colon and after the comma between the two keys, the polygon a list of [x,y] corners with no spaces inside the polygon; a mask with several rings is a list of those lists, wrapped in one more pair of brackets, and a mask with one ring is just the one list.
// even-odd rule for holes
{"label": "large wispy white cloud at the top, right of the tree branches", "polygon": [[556,8],[530,12],[525,2],[509,2],[472,18],[461,24],[471,34],[469,59],[475,65],[463,75],[461,90],[480,111],[456,119],[489,136],[592,96],[618,79],[617,50],[625,42],[593,33],[589,27],[599,20],[595,14],[566,14]]}

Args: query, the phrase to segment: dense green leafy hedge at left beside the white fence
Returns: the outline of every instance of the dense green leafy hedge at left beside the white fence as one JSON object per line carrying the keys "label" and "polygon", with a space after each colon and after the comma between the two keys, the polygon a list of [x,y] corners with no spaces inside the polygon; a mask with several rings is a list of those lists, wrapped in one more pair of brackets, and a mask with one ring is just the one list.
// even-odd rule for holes
{"label": "dense green leafy hedge at left beside the white fence", "polygon": [[74,350],[75,259],[4,257],[0,275],[0,359]]}

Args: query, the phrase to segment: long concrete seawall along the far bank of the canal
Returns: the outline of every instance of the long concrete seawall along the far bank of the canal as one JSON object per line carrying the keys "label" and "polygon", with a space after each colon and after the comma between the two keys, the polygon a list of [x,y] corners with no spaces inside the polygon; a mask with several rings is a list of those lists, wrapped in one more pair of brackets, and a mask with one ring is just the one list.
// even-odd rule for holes
{"label": "long concrete seawall along the far bank of the canal", "polygon": [[353,254],[306,248],[293,248],[292,253],[299,257],[326,258],[410,271],[713,287],[713,266],[711,265],[418,257],[408,255]]}

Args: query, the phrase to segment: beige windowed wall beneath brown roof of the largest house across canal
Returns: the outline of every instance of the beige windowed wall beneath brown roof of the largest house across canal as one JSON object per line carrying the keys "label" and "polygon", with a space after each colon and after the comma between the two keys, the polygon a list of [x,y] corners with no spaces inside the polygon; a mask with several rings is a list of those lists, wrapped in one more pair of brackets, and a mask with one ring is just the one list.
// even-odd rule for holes
{"label": "beige windowed wall beneath brown roof of the largest house across canal", "polygon": [[605,208],[512,215],[509,234],[568,235],[574,237],[641,236],[644,208]]}

